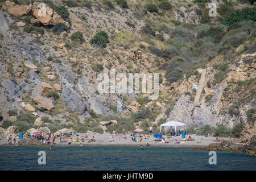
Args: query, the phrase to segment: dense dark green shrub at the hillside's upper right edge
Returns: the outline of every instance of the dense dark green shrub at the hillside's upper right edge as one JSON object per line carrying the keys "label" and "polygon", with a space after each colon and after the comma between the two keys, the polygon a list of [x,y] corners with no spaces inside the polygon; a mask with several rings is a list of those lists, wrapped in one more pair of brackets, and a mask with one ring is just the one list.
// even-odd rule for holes
{"label": "dense dark green shrub at the hillside's upper right edge", "polygon": [[256,9],[255,8],[246,8],[243,10],[237,10],[236,12],[230,14],[226,17],[221,23],[225,24],[228,27],[232,27],[233,24],[239,23],[242,21],[256,21]]}

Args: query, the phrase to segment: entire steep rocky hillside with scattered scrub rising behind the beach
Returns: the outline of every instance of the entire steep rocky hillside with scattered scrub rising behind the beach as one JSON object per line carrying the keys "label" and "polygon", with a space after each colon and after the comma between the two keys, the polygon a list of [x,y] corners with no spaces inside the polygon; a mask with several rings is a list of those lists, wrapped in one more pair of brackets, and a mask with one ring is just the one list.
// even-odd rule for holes
{"label": "entire steep rocky hillside with scattered scrub rising behind the beach", "polygon": [[[47,5],[46,18],[35,14],[37,3],[8,1],[0,10],[0,126],[3,120],[26,120],[19,113],[31,115],[31,125],[47,117],[53,125],[77,129],[88,127],[88,121],[99,123],[99,116],[138,114],[131,122],[136,127],[167,118],[196,128],[247,123],[243,135],[255,132],[254,22],[230,30],[220,23],[221,15],[205,20],[202,3],[172,3],[152,12],[144,2],[130,2],[126,9],[98,1],[65,6],[67,17],[55,11],[63,5],[56,3]],[[100,31],[108,35],[106,47],[90,42]],[[98,74],[109,75],[111,68],[126,76],[159,73],[158,100],[147,100],[148,94],[98,93]],[[207,72],[195,105],[197,68]]]}

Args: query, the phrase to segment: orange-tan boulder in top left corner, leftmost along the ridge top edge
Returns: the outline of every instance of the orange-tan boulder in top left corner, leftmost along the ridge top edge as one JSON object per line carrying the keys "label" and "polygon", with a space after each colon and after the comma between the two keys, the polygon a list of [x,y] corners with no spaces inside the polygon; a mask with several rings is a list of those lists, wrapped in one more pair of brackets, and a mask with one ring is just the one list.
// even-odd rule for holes
{"label": "orange-tan boulder in top left corner, leftmost along the ridge top edge", "polygon": [[2,9],[8,11],[9,14],[16,17],[27,15],[32,10],[32,4],[30,5],[16,5],[15,2],[6,1],[2,6]]}

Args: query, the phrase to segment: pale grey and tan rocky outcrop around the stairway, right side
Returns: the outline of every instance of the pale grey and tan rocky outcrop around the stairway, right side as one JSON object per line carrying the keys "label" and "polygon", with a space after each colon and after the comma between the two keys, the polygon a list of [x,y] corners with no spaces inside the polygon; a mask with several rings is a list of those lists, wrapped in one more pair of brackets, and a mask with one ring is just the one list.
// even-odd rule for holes
{"label": "pale grey and tan rocky outcrop around the stairway, right side", "polygon": [[[207,83],[212,81],[214,67],[207,69],[205,80],[205,93],[201,93],[200,104],[193,103],[192,88],[181,94],[175,102],[173,110],[168,115],[167,121],[182,121],[189,127],[202,127],[210,125],[216,127],[223,124],[233,127],[237,123],[244,123],[246,138],[255,134],[255,124],[247,122],[247,111],[255,109],[255,53],[238,56],[234,63],[229,64],[229,70],[223,81],[210,88]],[[251,82],[248,86],[245,81]],[[237,84],[238,83],[238,84]],[[179,85],[177,89],[181,88]],[[252,95],[251,95],[252,94]],[[207,100],[211,95],[210,100]]]}

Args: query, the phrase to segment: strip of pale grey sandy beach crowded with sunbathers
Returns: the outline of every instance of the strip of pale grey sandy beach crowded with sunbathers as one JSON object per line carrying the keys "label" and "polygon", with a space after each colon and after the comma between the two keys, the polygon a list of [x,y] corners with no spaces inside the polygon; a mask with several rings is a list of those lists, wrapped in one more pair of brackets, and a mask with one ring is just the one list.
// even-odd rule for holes
{"label": "strip of pale grey sandy beach crowded with sunbathers", "polygon": [[[85,133],[77,133],[80,136],[85,136]],[[87,134],[88,135],[88,134]],[[88,143],[88,140],[91,139],[94,136],[96,139],[96,142],[90,142]],[[146,135],[147,137],[147,135]],[[164,138],[166,138],[166,135],[163,135]],[[186,138],[188,138],[189,135],[186,135]],[[76,135],[73,135],[72,140],[75,140],[77,138]],[[126,138],[126,139],[125,139]],[[121,138],[118,137],[111,137],[111,134],[109,133],[104,133],[104,134],[95,134],[95,135],[88,135],[88,138],[84,140],[82,145],[133,145],[133,146],[146,146],[146,144],[150,144],[150,146],[187,146],[187,147],[203,147],[203,146],[209,146],[210,143],[216,143],[213,140],[216,137],[205,137],[205,136],[197,136],[197,135],[191,135],[192,139],[195,139],[193,141],[184,141],[184,139],[181,136],[177,137],[172,137],[170,139],[166,138],[166,141],[169,143],[160,143],[160,142],[155,142],[155,138],[151,137],[149,139],[143,139],[142,142],[133,142],[131,140],[130,135],[123,135]],[[69,139],[69,138],[68,138]],[[136,139],[139,139],[139,137],[136,137]],[[176,140],[177,141],[176,141]],[[226,139],[226,138],[222,138]],[[62,139],[63,140],[63,139]],[[52,139],[50,139],[52,141]],[[180,142],[180,143],[176,143]],[[72,145],[79,145],[81,142],[72,142]],[[0,145],[6,145],[7,144],[7,139],[2,138],[0,139]],[[55,145],[68,145],[68,142],[60,142],[60,138],[55,138]]]}

